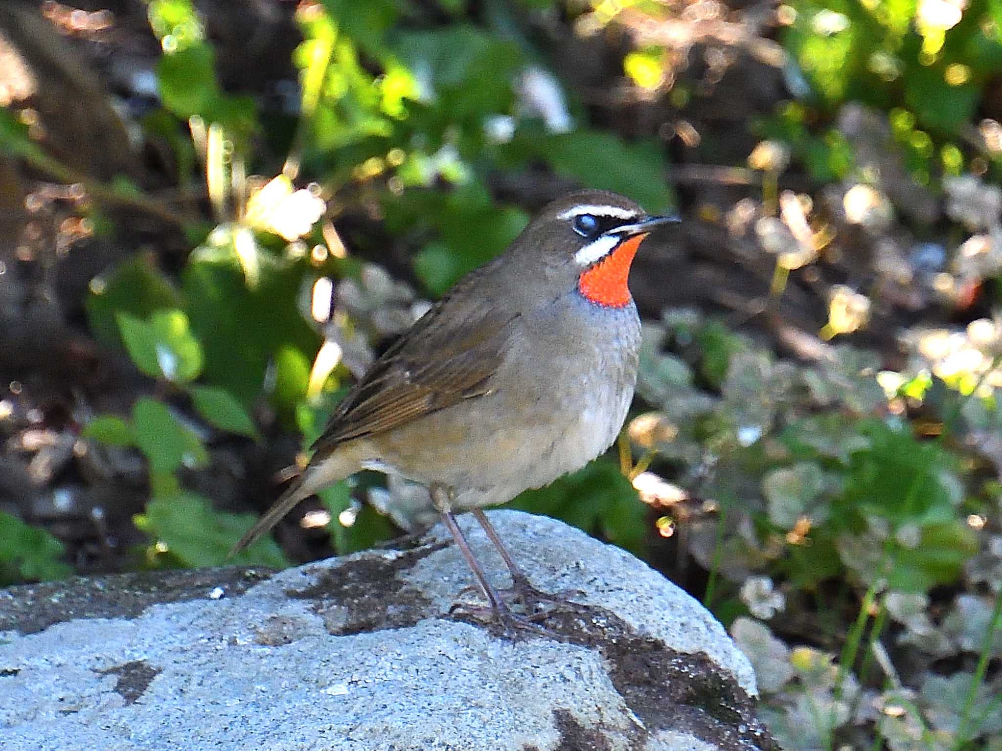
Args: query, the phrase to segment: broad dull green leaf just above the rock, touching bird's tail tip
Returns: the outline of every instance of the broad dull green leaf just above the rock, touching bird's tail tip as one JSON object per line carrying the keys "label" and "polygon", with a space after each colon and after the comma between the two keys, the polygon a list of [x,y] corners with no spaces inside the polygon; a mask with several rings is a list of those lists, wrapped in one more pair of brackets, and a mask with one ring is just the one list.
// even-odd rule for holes
{"label": "broad dull green leaf just above the rock, touching bird's tail tip", "polygon": [[154,498],[145,513],[134,517],[142,532],[166,547],[185,567],[220,566],[225,563],[265,565],[285,569],[289,561],[278,544],[265,537],[232,559],[229,551],[256,521],[253,514],[228,514],[212,508],[195,493]]}

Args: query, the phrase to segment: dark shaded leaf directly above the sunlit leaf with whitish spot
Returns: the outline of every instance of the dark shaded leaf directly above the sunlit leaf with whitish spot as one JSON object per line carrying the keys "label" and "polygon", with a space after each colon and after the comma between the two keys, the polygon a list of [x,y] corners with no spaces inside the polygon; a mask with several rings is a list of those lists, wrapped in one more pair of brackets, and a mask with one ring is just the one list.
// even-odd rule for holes
{"label": "dark shaded leaf directly above the sunlit leaf with whitish spot", "polygon": [[180,295],[156,267],[153,256],[140,253],[91,280],[86,301],[87,323],[100,343],[121,346],[124,342],[115,321],[116,313],[148,318],[154,310],[179,304]]}

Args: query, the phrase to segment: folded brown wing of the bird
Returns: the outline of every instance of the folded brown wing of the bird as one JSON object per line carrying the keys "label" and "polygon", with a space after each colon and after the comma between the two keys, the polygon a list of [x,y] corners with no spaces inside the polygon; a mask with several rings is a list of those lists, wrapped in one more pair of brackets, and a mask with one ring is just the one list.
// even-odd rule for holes
{"label": "folded brown wing of the bird", "polygon": [[490,391],[518,314],[497,315],[463,293],[438,302],[373,363],[314,444],[318,456]]}

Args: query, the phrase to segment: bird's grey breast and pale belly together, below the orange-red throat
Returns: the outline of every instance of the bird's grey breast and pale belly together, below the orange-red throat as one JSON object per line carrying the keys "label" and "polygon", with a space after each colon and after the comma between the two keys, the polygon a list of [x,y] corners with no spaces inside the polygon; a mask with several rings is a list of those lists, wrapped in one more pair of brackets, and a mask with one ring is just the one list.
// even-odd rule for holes
{"label": "bird's grey breast and pale belly together, below the orange-red throat", "polygon": [[485,394],[373,439],[394,474],[456,491],[455,508],[504,503],[580,469],[615,441],[636,383],[632,302],[583,297],[523,316]]}

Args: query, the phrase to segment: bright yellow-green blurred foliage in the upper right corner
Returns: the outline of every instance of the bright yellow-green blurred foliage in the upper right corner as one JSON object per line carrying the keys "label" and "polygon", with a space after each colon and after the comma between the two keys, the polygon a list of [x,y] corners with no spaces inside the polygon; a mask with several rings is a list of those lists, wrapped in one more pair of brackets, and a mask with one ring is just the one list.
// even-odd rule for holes
{"label": "bright yellow-green blurred foliage in the upper right corner", "polygon": [[808,0],[785,5],[782,15],[798,101],[760,128],[790,144],[816,179],[840,179],[855,166],[853,149],[831,125],[847,102],[889,114],[895,145],[921,184],[959,173],[965,153],[987,157],[998,174],[993,135],[971,148],[979,141],[972,122],[1002,64],[998,3]]}

